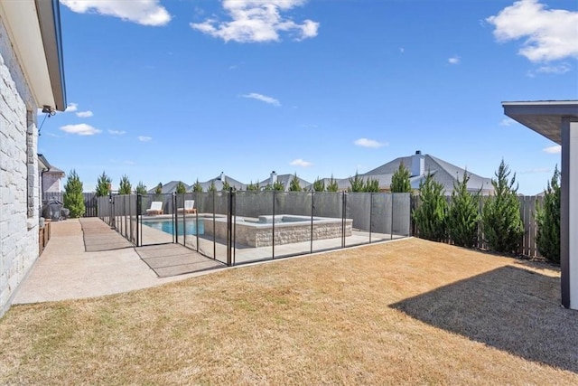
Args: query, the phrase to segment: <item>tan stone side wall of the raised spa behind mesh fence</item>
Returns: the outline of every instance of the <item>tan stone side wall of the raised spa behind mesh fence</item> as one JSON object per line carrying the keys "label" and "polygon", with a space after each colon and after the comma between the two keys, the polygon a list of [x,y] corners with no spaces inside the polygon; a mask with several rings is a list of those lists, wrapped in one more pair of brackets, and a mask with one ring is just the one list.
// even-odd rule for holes
{"label": "tan stone side wall of the raised spa behind mesh fence", "polygon": [[[213,219],[204,218],[205,233],[213,234]],[[353,220],[345,220],[345,236],[351,236]],[[227,219],[215,221],[215,237],[227,239]],[[336,239],[341,237],[341,219],[326,219],[313,221],[313,240]],[[268,247],[273,245],[273,226],[271,223],[235,224],[235,240],[249,247]],[[275,245],[291,244],[311,240],[311,221],[275,223]]]}

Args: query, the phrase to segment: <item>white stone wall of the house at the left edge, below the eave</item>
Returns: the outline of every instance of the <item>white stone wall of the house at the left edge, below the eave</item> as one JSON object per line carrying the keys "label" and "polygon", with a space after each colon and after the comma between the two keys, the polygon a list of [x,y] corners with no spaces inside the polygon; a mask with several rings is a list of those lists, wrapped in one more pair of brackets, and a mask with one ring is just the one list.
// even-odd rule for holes
{"label": "white stone wall of the house at the left edge, below the eave", "polygon": [[38,259],[36,105],[0,20],[0,316]]}

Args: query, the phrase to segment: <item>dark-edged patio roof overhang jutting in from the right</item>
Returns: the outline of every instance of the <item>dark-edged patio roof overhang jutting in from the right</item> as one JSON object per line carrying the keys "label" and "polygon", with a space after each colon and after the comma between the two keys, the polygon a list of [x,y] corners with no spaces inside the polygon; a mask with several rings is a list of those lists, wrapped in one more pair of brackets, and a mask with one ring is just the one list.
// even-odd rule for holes
{"label": "dark-edged patio roof overhang jutting in from the right", "polygon": [[504,114],[562,145],[563,118],[578,118],[578,100],[502,102]]}

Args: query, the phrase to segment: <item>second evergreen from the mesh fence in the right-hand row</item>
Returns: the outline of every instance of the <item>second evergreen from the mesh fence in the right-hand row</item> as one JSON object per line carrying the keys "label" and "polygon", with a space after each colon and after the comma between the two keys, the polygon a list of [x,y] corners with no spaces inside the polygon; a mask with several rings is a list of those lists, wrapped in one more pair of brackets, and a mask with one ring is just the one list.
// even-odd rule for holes
{"label": "second evergreen from the mesh fence in the right-hand row", "polygon": [[474,248],[478,245],[480,192],[468,192],[468,181],[470,181],[470,175],[466,171],[461,181],[453,184],[447,227],[448,235],[455,245]]}

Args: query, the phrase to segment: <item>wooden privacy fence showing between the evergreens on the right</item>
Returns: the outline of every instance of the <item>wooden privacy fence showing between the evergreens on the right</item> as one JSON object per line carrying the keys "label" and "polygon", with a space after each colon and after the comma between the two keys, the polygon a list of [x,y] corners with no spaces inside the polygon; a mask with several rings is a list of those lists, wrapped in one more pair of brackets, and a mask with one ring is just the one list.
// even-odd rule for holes
{"label": "wooden privacy fence showing between the evergreens on the right", "polygon": [[[537,224],[536,224],[536,208],[544,202],[544,197],[542,196],[517,196],[520,202],[520,216],[522,222],[524,223],[524,235],[519,241],[519,247],[517,249],[517,254],[522,256],[527,256],[530,258],[541,257],[538,252],[536,245],[536,235],[537,235]],[[488,196],[480,197],[480,213],[484,206],[484,203],[488,200]],[[448,204],[452,202],[452,197],[447,196]],[[412,197],[412,211],[419,205],[419,196]],[[419,230],[412,225],[412,234],[419,237]],[[452,240],[447,240],[452,243]],[[488,245],[485,241],[485,235],[483,232],[483,226],[480,221],[480,226],[478,227],[478,245],[479,249],[488,249]]]}

